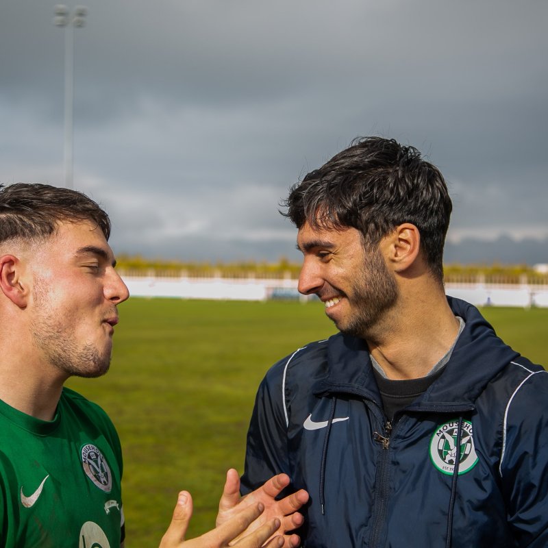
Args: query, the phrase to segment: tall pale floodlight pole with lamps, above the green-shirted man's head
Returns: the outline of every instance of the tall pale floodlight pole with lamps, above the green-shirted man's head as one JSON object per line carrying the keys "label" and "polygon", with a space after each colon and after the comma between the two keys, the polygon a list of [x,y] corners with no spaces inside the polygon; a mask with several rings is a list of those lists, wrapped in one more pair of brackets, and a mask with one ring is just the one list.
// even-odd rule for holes
{"label": "tall pale floodlight pole with lamps, above the green-shirted man's head", "polygon": [[71,13],[66,5],[55,6],[53,23],[64,27],[64,186],[73,187],[74,142],[74,29],[83,27],[88,10],[82,5]]}

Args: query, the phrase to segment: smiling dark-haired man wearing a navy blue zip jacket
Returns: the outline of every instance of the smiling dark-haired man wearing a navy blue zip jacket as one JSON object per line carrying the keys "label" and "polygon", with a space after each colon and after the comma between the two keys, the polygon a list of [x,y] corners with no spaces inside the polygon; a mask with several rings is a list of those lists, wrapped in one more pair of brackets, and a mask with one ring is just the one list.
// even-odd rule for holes
{"label": "smiling dark-haired man wearing a navy blue zip jacket", "polygon": [[242,493],[310,493],[306,547],[548,546],[548,375],[446,297],[451,199],[395,140],[356,140],[293,186],[299,291],[340,333],[266,374]]}

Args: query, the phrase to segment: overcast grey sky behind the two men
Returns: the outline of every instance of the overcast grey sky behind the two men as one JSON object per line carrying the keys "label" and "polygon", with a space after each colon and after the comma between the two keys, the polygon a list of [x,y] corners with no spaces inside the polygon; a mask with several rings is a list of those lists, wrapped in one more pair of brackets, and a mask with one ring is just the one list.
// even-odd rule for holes
{"label": "overcast grey sky behind the two men", "polygon": [[[64,182],[53,5],[0,6],[3,184]],[[75,188],[108,210],[116,253],[297,260],[288,186],[376,134],[444,173],[447,262],[548,262],[545,0],[86,5]]]}

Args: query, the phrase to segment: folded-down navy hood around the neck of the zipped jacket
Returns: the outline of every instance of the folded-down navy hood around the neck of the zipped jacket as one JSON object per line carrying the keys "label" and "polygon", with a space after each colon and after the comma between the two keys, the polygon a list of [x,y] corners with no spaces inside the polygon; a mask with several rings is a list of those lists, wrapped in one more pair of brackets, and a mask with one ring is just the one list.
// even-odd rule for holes
{"label": "folded-down navy hood around the neck of the zipped jacket", "polygon": [[[473,404],[490,379],[519,356],[497,337],[475,306],[453,297],[447,301],[466,325],[442,375],[413,404],[417,411],[433,405]],[[316,384],[314,393],[352,392],[380,401],[365,340],[342,333],[330,337],[327,362],[327,377]]]}

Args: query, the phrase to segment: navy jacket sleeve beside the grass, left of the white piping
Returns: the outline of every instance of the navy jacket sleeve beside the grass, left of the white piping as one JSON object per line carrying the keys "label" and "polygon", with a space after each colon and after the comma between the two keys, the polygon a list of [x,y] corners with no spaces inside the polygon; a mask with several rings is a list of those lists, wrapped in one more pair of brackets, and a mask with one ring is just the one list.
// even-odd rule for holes
{"label": "navy jacket sleeve beside the grass, left of the white piping", "polygon": [[[245,472],[240,485],[242,495],[259,488],[273,475],[286,473],[291,477],[283,373],[284,364],[279,363],[273,366],[260,384],[247,432]],[[290,492],[288,487],[282,496]]]}

